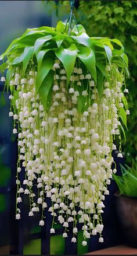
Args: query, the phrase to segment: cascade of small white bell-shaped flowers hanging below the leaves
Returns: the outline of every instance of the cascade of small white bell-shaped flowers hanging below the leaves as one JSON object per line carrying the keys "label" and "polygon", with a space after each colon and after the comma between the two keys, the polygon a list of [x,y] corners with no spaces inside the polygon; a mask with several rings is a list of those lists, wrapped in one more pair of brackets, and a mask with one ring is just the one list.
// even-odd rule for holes
{"label": "cascade of small white bell-shaped flowers hanging below the leaves", "polygon": [[[97,233],[99,242],[103,242],[103,202],[105,195],[109,195],[107,186],[112,173],[116,172],[111,169],[111,152],[116,149],[113,139],[116,135],[120,137],[123,77],[116,65],[107,66],[108,75],[100,97],[91,74],[85,74],[80,66],[75,65],[69,87],[59,59],[52,69],[52,104],[47,111],[35,93],[37,72],[30,70],[24,78],[16,69],[10,80],[14,89],[9,96],[9,116],[14,120],[13,134],[18,130],[19,146],[16,219],[20,219],[19,205],[24,193],[30,198],[28,216],[42,209],[39,225],[43,226],[46,198],[51,198],[47,211],[51,212],[53,223],[56,218],[62,223],[63,237],[67,237],[72,222],[71,241],[75,243],[79,222],[83,246],[86,239]],[[12,112],[13,101],[16,113]],[[121,147],[118,157],[122,157]],[[21,171],[25,176],[23,184]],[[55,233],[53,225],[51,233]]]}

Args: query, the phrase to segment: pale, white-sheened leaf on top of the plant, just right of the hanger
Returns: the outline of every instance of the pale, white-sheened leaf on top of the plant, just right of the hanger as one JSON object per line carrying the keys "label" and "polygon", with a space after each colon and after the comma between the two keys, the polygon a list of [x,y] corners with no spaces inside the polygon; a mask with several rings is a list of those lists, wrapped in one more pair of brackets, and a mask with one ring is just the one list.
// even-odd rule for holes
{"label": "pale, white-sheened leaf on top of the plant, just right of the hanger", "polygon": [[71,36],[77,43],[84,44],[85,46],[91,47],[91,38],[85,33],[79,33],[77,36]]}

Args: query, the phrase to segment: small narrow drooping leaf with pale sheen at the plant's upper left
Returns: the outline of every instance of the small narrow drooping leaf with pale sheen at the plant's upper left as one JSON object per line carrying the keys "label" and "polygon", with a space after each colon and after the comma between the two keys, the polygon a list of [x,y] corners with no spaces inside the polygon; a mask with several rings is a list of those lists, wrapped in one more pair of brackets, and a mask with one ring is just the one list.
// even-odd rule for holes
{"label": "small narrow drooping leaf with pale sheen at the plant's upper left", "polygon": [[26,68],[28,62],[30,61],[31,57],[33,56],[34,46],[26,47],[23,52],[23,73],[26,72]]}

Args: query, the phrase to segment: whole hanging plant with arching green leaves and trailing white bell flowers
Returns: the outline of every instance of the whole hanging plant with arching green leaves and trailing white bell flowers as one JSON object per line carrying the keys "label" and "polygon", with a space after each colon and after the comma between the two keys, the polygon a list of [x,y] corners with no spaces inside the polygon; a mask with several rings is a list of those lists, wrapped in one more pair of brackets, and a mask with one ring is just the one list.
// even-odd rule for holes
{"label": "whole hanging plant with arching green leaves and trailing white bell flowers", "polygon": [[16,219],[26,194],[28,215],[41,211],[39,225],[49,211],[53,223],[62,223],[63,237],[73,222],[75,243],[79,222],[83,246],[97,233],[103,242],[103,201],[116,172],[113,139],[118,135],[122,157],[121,132],[129,114],[124,47],[117,39],[89,37],[82,25],[70,30],[70,23],[59,22],[56,28],[27,29],[1,59],[1,71],[8,69],[1,80],[11,92],[13,134],[18,133]]}

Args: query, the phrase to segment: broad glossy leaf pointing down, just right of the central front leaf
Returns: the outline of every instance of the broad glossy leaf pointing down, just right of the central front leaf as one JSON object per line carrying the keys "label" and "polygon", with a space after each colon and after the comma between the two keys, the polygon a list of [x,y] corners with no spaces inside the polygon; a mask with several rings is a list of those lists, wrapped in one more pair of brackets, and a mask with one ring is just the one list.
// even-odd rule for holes
{"label": "broad glossy leaf pointing down, just right of the central front leaf", "polygon": [[93,50],[89,47],[82,47],[80,46],[78,48],[80,50],[78,52],[78,58],[81,59],[81,61],[84,63],[88,71],[93,76],[93,79],[96,82],[96,59],[95,59],[95,53]]}

